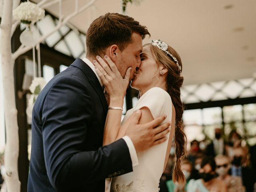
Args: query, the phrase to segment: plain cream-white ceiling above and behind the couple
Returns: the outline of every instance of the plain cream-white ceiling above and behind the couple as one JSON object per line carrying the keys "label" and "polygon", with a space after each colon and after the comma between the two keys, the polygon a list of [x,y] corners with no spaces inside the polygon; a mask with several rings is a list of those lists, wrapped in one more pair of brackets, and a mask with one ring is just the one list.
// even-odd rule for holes
{"label": "plain cream-white ceiling above and behind the couple", "polygon": [[[74,2],[64,0],[64,16],[74,10]],[[79,7],[87,2],[79,0]],[[86,32],[98,16],[119,12],[120,2],[98,0],[70,22]],[[58,16],[58,4],[47,10]],[[128,15],[146,25],[151,38],[180,54],[186,85],[256,77],[255,10],[255,0],[143,0],[127,6]]]}

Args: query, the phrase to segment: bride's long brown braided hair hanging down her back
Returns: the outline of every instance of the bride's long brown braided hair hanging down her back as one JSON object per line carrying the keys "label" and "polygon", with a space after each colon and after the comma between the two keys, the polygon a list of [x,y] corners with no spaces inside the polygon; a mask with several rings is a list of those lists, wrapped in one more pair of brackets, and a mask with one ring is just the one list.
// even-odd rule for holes
{"label": "bride's long brown braided hair hanging down her back", "polygon": [[[146,45],[148,46],[148,44]],[[186,156],[186,142],[187,138],[183,131],[182,126],[182,114],[184,106],[180,99],[180,87],[183,83],[183,77],[180,76],[180,71],[176,62],[170,56],[166,55],[158,47],[149,44],[152,54],[155,56],[156,61],[159,64],[164,65],[168,69],[168,74],[166,77],[166,89],[172,98],[172,103],[175,108],[175,135],[174,142],[176,145],[176,162],[174,164],[172,180],[174,183],[179,185],[184,185],[186,183],[186,178],[181,170],[180,161]],[[168,52],[177,58],[179,65],[182,67],[182,62],[178,53],[170,46],[168,46]]]}

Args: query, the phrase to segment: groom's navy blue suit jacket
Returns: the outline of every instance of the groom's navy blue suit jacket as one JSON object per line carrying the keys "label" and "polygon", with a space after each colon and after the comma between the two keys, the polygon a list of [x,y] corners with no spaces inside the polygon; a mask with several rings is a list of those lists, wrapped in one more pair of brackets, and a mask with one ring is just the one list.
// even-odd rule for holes
{"label": "groom's navy blue suit jacket", "polygon": [[81,59],[48,82],[32,113],[28,192],[104,192],[105,178],[132,171],[123,139],[102,147],[107,108]]}

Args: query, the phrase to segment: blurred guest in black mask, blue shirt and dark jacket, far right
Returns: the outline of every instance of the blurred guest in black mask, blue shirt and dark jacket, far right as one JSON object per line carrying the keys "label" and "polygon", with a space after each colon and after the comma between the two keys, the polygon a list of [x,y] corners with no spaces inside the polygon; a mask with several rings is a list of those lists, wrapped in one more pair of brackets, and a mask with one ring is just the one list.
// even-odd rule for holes
{"label": "blurred guest in black mask, blue shirt and dark jacket, far right", "polygon": [[234,156],[232,158],[232,166],[230,169],[231,176],[238,176],[242,178],[243,185],[246,188],[246,192],[253,191],[253,185],[256,181],[255,173],[252,172],[252,169],[246,166],[245,156],[242,147],[234,148]]}

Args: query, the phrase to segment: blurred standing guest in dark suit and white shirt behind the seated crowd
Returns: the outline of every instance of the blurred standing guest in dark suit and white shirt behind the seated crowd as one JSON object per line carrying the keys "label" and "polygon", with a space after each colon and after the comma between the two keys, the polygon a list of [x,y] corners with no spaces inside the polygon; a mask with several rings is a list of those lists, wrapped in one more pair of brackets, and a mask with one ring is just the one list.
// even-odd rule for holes
{"label": "blurred standing guest in dark suit and white shirt behind the seated crowd", "polygon": [[225,142],[222,137],[222,130],[220,128],[215,128],[214,130],[215,138],[208,144],[205,150],[206,156],[215,157],[218,154],[225,154]]}

